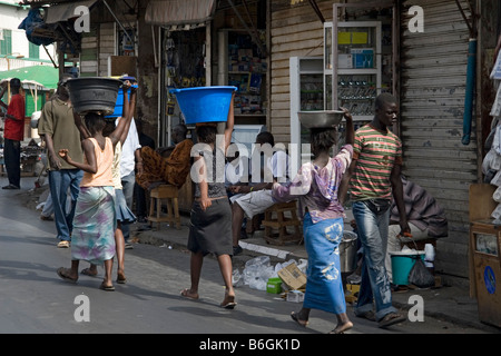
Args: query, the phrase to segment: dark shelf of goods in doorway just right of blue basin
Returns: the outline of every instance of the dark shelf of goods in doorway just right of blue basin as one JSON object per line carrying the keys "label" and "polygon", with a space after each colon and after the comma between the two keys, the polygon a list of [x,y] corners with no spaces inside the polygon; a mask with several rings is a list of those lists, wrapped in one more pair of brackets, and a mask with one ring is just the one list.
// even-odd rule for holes
{"label": "dark shelf of goods in doorway just right of blue basin", "polygon": [[267,61],[249,34],[227,33],[227,85],[235,86],[235,116],[266,116]]}

